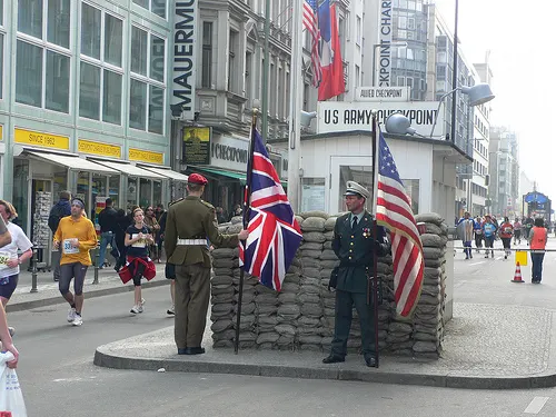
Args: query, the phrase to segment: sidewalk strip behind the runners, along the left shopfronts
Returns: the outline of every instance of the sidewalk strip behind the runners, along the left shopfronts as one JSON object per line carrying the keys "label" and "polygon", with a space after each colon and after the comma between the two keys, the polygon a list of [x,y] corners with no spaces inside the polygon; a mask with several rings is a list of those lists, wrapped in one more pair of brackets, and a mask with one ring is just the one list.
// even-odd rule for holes
{"label": "sidewalk strip behind the runners, along the left shopfronts", "polygon": [[[158,287],[168,285],[169,280],[165,278],[166,264],[156,264],[157,276],[150,281],[143,281],[143,288]],[[87,270],[85,278],[83,294],[86,298],[95,298],[108,296],[111,294],[126,292],[133,290],[133,282],[122,285],[120,277],[113,268],[99,269],[98,284],[92,284],[95,280],[95,268],[91,266]],[[6,307],[8,312],[22,311],[32,308],[51,306],[53,304],[66,302],[58,290],[58,282],[53,280],[52,272],[37,274],[37,292],[31,292],[31,272],[23,270],[19,275],[19,282],[16,291],[10,298],[10,302]],[[70,286],[70,289],[72,286]]]}

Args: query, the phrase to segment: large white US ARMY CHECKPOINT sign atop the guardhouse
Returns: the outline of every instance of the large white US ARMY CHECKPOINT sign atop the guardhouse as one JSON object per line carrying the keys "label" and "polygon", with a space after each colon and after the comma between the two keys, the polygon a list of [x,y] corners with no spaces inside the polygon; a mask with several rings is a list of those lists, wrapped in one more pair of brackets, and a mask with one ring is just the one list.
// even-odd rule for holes
{"label": "large white US ARMY CHECKPOINT sign atop the guardhouse", "polygon": [[[373,111],[376,111],[379,123],[384,123],[388,116],[399,112],[406,116],[417,133],[429,137],[435,118],[437,117],[437,101],[410,102],[360,102],[360,101],[319,101],[317,105],[318,133],[370,130]],[[438,113],[435,128],[435,138],[444,136],[444,112]]]}

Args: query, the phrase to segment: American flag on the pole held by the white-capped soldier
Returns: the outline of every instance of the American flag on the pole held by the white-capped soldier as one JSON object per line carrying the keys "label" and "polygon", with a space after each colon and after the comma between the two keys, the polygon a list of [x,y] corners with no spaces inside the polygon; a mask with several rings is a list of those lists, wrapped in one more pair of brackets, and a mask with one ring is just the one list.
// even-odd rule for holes
{"label": "American flag on the pole held by the white-capped soldier", "polygon": [[377,221],[390,230],[396,310],[409,317],[423,286],[423,244],[390,149],[379,132]]}

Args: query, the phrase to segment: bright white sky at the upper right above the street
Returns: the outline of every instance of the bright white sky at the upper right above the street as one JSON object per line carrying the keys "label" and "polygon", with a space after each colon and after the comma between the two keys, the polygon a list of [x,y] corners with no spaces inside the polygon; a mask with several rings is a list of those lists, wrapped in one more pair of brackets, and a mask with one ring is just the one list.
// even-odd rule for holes
{"label": "bright white sky at the upper right above the street", "polygon": [[[454,29],[456,0],[436,0]],[[460,0],[459,48],[467,61],[484,62],[490,50],[496,98],[490,126],[506,126],[519,138],[520,168],[537,190],[556,201],[556,77],[553,43],[556,2]],[[555,125],[553,127],[553,123]]]}

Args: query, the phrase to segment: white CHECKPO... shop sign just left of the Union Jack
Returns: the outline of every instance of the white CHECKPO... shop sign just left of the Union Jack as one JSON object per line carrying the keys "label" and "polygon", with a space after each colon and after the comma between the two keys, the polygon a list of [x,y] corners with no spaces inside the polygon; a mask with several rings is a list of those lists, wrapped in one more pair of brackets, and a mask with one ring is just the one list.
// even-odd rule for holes
{"label": "white CHECKPO... shop sign just left of the Union Jack", "polygon": [[249,140],[220,136],[210,143],[210,166],[246,172]]}

